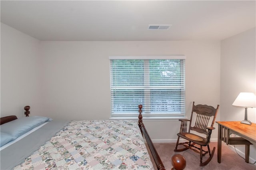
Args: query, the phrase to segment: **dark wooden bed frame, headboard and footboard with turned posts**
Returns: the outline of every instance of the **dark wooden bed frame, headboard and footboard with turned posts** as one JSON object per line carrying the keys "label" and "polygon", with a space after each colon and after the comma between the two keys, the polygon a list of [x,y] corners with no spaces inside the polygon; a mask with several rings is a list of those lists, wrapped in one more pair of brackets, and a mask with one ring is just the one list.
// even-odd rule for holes
{"label": "dark wooden bed frame, headboard and footboard with turned posts", "polygon": [[[144,126],[143,122],[142,122],[142,105],[138,105],[139,108],[139,116],[138,116],[138,125],[140,127],[140,131],[142,133],[142,136],[144,136],[144,138],[146,139],[146,142],[148,144],[148,148],[150,149],[150,152],[152,154],[152,157],[154,159],[154,162],[156,164],[156,167],[158,170],[165,170],[164,165],[162,163],[162,160],[160,159],[160,156],[158,155],[156,148],[154,147],[154,144],[146,130],[146,127]],[[28,116],[28,114],[30,113],[30,111],[28,111],[30,109],[29,106],[25,106],[25,115]],[[8,123],[10,121],[13,121],[15,119],[18,119],[16,116],[6,116],[6,117],[1,117],[0,119],[0,125],[4,124],[4,123]]]}

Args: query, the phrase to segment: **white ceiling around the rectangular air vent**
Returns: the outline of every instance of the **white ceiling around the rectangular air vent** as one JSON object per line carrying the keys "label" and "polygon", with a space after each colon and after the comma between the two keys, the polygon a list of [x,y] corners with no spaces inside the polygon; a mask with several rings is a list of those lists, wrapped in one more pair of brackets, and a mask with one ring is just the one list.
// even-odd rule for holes
{"label": "white ceiling around the rectangular air vent", "polygon": [[[223,40],[256,25],[255,0],[1,0],[1,22],[44,41]],[[148,30],[148,25],[172,25]]]}

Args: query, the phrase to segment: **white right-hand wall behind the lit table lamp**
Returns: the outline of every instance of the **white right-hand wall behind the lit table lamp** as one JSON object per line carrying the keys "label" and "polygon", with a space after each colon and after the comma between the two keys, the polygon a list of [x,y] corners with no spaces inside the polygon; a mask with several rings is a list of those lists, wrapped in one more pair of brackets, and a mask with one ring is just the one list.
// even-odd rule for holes
{"label": "white right-hand wall behind the lit table lamp", "polygon": [[[240,92],[256,94],[256,30],[250,29],[221,42],[220,105],[221,121],[244,120],[244,108],[232,106]],[[248,108],[248,120],[256,123],[256,109]],[[244,152],[244,146],[236,147]],[[256,147],[250,146],[256,160]]]}

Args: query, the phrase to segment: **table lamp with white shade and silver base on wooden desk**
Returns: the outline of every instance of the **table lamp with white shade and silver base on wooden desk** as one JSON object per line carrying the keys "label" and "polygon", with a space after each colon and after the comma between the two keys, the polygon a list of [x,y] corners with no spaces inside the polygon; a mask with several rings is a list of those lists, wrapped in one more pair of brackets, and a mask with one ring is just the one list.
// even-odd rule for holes
{"label": "table lamp with white shade and silver base on wooden desk", "polygon": [[252,125],[251,121],[247,120],[247,108],[248,107],[256,107],[256,96],[254,93],[239,93],[238,97],[232,104],[233,106],[240,106],[245,108],[244,120],[240,123],[244,123],[247,125]]}

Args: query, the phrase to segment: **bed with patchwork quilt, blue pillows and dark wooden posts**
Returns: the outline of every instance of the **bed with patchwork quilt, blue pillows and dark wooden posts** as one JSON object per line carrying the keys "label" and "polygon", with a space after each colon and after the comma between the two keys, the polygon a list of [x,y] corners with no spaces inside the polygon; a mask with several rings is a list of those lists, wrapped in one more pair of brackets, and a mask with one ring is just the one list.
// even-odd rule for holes
{"label": "bed with patchwork quilt, blue pillows and dark wooden posts", "polygon": [[3,117],[0,169],[165,170],[138,107],[138,122]]}

